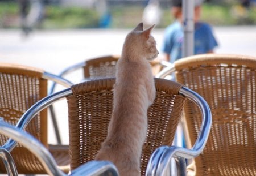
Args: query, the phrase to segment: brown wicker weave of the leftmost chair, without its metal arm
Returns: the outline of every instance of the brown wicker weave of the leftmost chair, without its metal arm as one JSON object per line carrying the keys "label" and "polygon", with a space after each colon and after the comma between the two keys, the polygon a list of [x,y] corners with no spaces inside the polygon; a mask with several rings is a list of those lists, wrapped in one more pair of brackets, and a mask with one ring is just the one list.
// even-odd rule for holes
{"label": "brown wicker weave of the leftmost chair, without its metal arm", "polygon": [[[31,105],[35,104],[40,98],[47,95],[47,89],[41,89],[47,87],[47,80],[40,79],[42,72],[38,71],[27,71],[25,67],[19,66],[3,66],[0,70],[0,116],[5,119],[6,122],[16,125],[21,115],[30,108]],[[22,70],[26,70],[22,72]],[[22,74],[18,74],[22,72]],[[32,122],[26,128],[27,132],[34,135],[44,145],[47,141],[47,133],[44,115],[41,113],[40,116],[32,119]],[[42,122],[42,118],[43,122]],[[43,130],[43,131],[42,131]],[[45,131],[44,131],[45,130]],[[42,136],[42,134],[46,136]],[[0,143],[3,145],[7,138],[1,135]],[[37,158],[30,153],[26,148],[18,145],[11,152],[15,165],[19,173],[40,173],[43,170],[43,166]],[[1,172],[5,173],[5,167],[1,164]]]}

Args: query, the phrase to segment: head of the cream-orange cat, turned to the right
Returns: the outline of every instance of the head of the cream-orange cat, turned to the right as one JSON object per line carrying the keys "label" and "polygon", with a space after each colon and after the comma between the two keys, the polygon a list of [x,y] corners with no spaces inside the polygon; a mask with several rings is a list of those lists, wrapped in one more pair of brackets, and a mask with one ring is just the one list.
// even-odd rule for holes
{"label": "head of the cream-orange cat, turned to the right", "polygon": [[131,31],[127,37],[125,44],[126,49],[133,54],[139,54],[147,60],[152,60],[158,56],[158,50],[156,49],[156,41],[151,36],[151,31],[155,27],[152,25],[150,28],[143,30],[143,23],[139,23],[137,27]]}

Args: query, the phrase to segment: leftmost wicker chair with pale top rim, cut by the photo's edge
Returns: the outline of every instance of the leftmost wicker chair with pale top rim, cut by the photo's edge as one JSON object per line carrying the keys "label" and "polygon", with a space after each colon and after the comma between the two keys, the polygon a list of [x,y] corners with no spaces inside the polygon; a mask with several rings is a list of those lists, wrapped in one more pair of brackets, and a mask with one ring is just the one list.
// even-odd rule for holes
{"label": "leftmost wicker chair with pale top rim, cut by the photo's edge", "polygon": [[[71,83],[58,76],[44,72],[38,68],[0,63],[0,116],[16,125],[23,113],[35,102],[47,96],[48,80],[56,81],[69,87]],[[57,164],[63,170],[69,171],[69,147],[67,145],[49,145],[47,141],[47,110],[42,111],[26,128],[26,131],[39,139],[55,157]],[[0,145],[8,138],[0,136]],[[16,163],[18,173],[43,174],[46,173],[40,162],[22,145],[18,145],[11,155]],[[1,173],[5,167],[0,164]]]}

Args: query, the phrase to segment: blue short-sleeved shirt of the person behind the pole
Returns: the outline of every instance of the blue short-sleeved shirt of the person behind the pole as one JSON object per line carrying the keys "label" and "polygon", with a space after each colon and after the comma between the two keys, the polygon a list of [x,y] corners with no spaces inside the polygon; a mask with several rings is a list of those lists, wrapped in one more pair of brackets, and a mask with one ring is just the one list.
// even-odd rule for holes
{"label": "blue short-sleeved shirt of the person behind the pole", "polygon": [[[171,63],[182,57],[183,37],[183,27],[177,20],[169,25],[164,32],[163,52],[170,54]],[[194,54],[208,53],[218,45],[213,36],[212,28],[207,23],[195,23],[194,38]]]}

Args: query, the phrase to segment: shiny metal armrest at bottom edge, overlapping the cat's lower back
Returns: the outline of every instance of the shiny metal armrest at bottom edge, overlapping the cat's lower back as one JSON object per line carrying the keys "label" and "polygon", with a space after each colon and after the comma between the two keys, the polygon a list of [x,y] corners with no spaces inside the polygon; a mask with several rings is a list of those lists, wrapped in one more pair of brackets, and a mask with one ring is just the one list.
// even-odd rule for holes
{"label": "shiny metal armrest at bottom edge, overlapping the cat's lower back", "polygon": [[109,175],[118,176],[118,170],[109,161],[89,161],[72,171],[71,176],[79,175]]}

